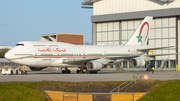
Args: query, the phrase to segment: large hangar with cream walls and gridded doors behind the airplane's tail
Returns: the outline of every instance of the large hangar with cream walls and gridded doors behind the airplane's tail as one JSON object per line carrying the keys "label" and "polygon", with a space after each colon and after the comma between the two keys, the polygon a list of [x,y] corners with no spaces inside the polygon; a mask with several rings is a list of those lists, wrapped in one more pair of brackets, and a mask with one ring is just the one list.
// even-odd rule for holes
{"label": "large hangar with cream walls and gridded doors behind the airplane's tail", "polygon": [[[123,45],[131,37],[145,16],[153,16],[148,44],[151,47],[175,46],[156,50],[154,54],[180,53],[180,0],[85,0],[82,8],[93,8],[92,40],[94,45]],[[158,56],[151,66],[159,68],[168,58],[167,69],[179,64],[180,56]],[[129,61],[124,68],[131,68]]]}

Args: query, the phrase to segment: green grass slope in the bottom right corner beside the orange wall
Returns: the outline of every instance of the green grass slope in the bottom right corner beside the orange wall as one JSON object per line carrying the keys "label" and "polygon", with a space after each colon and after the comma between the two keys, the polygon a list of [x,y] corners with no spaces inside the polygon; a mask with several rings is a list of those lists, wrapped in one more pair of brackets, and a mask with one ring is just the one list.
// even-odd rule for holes
{"label": "green grass slope in the bottom right corner beside the orange wall", "polygon": [[138,101],[180,101],[180,81],[165,81]]}

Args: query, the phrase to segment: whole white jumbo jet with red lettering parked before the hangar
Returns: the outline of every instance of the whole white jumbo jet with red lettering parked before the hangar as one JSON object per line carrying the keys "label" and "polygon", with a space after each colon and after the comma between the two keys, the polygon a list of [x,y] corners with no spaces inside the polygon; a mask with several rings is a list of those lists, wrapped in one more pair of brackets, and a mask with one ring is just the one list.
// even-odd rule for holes
{"label": "whole white jumbo jet with red lettering parked before the hangar", "polygon": [[[47,67],[63,67],[62,73],[71,73],[69,68],[78,67],[77,73],[97,73],[108,64],[130,60],[132,67],[143,67],[155,56],[175,54],[147,54],[147,45],[152,16],[144,18],[140,26],[124,45],[74,45],[63,42],[22,41],[10,49],[5,58],[11,62],[42,70]],[[83,71],[85,69],[85,71]]]}

